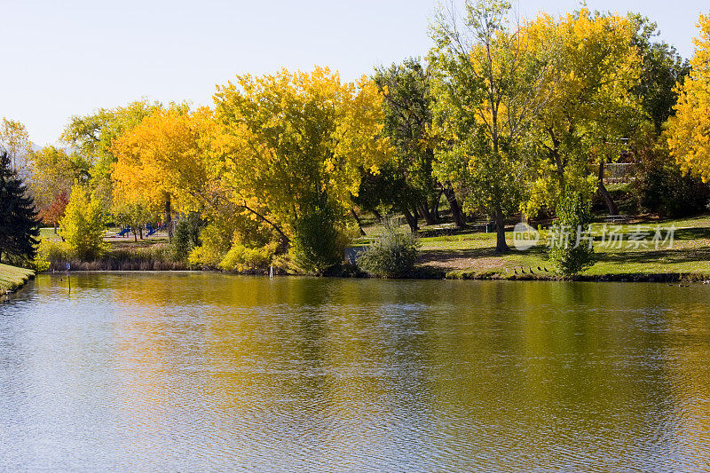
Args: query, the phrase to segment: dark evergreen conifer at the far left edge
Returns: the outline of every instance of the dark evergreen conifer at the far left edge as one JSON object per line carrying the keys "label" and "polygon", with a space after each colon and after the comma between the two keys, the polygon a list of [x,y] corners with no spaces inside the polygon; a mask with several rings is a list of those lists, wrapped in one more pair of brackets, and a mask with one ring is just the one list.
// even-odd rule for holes
{"label": "dark evergreen conifer at the far left edge", "polygon": [[33,258],[37,237],[35,201],[12,170],[9,156],[0,153],[0,262],[3,256]]}

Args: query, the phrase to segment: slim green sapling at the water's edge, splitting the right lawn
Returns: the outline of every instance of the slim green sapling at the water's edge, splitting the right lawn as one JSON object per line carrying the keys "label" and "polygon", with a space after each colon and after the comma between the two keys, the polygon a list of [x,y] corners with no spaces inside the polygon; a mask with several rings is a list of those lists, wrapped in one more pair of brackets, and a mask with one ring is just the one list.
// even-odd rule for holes
{"label": "slim green sapling at the water's edge, splitting the right lawn", "polygon": [[584,271],[595,263],[594,247],[585,240],[592,222],[591,200],[574,187],[566,187],[557,204],[556,242],[549,249],[552,264],[564,276]]}

